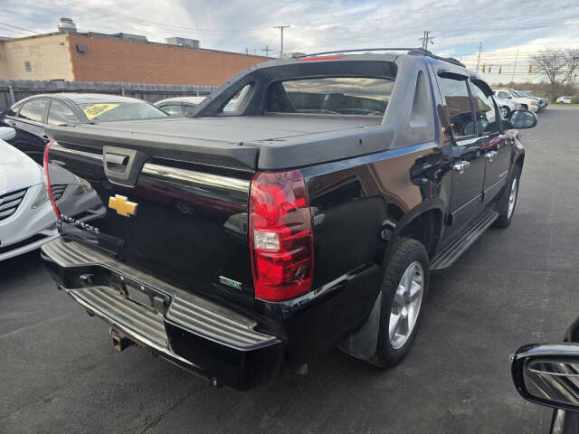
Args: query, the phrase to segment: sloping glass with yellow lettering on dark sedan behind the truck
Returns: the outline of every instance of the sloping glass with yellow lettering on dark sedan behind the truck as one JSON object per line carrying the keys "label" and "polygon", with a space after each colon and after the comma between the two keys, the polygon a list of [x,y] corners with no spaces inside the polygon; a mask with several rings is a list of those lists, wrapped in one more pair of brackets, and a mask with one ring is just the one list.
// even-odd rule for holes
{"label": "sloping glass with yellow lettering on dark sedan behind the truck", "polygon": [[168,116],[163,110],[144,102],[100,102],[79,104],[79,106],[85,116],[94,122],[165,118]]}

